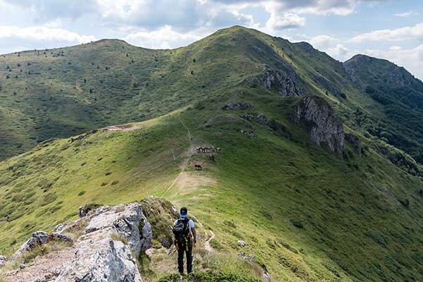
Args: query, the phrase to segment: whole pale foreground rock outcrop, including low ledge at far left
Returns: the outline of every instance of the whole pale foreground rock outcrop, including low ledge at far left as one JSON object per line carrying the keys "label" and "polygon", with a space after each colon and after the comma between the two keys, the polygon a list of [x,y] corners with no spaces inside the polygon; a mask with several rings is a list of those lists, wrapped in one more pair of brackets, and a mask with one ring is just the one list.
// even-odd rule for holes
{"label": "whole pale foreground rock outcrop, including low ledge at far left", "polygon": [[70,258],[60,264],[51,263],[54,273],[47,273],[47,281],[142,282],[136,262],[141,252],[152,247],[152,226],[142,213],[141,204],[102,206],[73,223],[59,224],[55,233],[37,231],[13,259],[52,240],[71,242],[66,234],[82,235],[69,247],[75,250]]}

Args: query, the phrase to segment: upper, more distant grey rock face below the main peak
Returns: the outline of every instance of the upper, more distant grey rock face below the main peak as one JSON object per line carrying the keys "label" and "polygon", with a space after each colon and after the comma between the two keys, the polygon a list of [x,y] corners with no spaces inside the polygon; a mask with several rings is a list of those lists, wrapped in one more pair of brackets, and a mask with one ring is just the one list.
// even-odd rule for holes
{"label": "upper, more distant grey rock face below the main peak", "polygon": [[284,97],[298,97],[305,94],[297,73],[287,65],[281,65],[279,68],[264,66],[263,71],[252,82],[267,89],[278,90]]}

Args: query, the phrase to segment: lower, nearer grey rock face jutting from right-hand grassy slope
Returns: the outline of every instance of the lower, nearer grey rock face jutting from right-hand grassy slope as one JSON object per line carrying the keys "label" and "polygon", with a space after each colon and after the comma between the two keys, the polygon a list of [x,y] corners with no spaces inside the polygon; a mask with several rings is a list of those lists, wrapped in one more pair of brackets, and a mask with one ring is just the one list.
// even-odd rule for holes
{"label": "lower, nearer grey rock face jutting from right-hand grassy slope", "polygon": [[306,125],[317,146],[326,143],[331,152],[342,154],[345,140],[343,124],[329,104],[317,97],[304,97],[295,107],[294,121]]}

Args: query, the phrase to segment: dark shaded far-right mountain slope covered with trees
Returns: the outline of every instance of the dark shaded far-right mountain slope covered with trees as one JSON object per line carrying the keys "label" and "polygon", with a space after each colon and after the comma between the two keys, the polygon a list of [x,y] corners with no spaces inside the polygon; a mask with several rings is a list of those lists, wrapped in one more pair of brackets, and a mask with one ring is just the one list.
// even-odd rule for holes
{"label": "dark shaded far-right mountain slope covered with trees", "polygon": [[344,63],[363,95],[381,107],[383,119],[362,127],[423,162],[423,82],[404,68],[381,59],[357,55]]}

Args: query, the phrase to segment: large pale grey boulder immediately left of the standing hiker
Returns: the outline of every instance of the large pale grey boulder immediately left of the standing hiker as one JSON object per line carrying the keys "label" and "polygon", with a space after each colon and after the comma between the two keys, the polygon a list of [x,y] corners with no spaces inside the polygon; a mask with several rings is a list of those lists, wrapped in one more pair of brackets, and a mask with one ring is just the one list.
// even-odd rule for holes
{"label": "large pale grey boulder immediately left of the standing hiker", "polygon": [[142,281],[136,259],[151,247],[152,228],[141,205],[100,207],[83,219],[88,223],[78,239],[78,251],[55,281]]}

